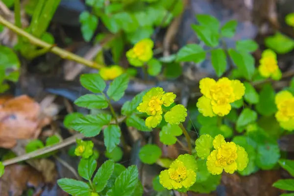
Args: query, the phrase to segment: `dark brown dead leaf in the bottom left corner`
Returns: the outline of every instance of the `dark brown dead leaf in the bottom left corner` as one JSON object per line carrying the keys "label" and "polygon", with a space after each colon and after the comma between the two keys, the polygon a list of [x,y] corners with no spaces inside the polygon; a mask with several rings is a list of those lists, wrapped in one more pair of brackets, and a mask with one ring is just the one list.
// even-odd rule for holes
{"label": "dark brown dead leaf in the bottom left corner", "polygon": [[0,178],[0,196],[21,196],[27,187],[44,185],[42,175],[31,166],[9,165]]}

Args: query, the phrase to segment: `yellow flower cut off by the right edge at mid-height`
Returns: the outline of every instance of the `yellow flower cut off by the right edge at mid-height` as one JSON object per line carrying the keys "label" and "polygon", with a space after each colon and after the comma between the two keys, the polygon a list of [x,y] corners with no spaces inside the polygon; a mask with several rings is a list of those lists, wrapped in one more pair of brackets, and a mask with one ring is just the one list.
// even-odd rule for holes
{"label": "yellow flower cut off by the right edge at mid-height", "polygon": [[280,126],[288,131],[294,130],[294,96],[289,91],[281,91],[275,97],[278,111],[275,114]]}

